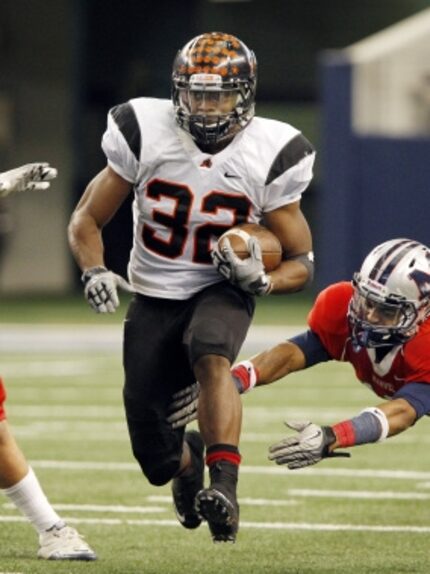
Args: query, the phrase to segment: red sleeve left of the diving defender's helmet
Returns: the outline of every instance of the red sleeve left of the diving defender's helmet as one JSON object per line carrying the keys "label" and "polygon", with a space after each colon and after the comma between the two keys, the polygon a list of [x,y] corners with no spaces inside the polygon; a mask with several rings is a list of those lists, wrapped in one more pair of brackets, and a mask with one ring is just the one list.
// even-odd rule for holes
{"label": "red sleeve left of the diving defender's helmet", "polygon": [[330,285],[322,291],[308,315],[308,325],[334,359],[340,360],[349,337],[348,306],[351,283]]}

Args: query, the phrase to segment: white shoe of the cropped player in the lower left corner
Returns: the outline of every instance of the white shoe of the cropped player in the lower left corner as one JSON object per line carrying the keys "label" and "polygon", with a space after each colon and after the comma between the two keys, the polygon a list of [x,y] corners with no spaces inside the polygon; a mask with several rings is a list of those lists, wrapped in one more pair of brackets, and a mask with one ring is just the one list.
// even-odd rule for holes
{"label": "white shoe of the cropped player in the lower left corner", "polygon": [[97,555],[77,530],[53,526],[39,535],[38,558],[45,560],[96,560]]}

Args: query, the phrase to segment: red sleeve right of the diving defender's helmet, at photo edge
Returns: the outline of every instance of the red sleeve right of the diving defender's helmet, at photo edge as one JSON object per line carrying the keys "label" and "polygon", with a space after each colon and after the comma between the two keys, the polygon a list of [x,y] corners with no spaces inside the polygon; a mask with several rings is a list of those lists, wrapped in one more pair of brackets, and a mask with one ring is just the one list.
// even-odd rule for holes
{"label": "red sleeve right of the diving defender's helmet, at photo edge", "polygon": [[404,347],[408,382],[430,383],[430,319]]}

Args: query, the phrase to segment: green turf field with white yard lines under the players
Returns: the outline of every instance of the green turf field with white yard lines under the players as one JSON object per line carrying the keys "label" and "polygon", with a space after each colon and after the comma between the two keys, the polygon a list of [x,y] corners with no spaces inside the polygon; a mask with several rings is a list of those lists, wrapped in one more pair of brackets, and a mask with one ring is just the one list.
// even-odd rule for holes
{"label": "green turf field with white yard lines under the players", "polygon": [[[260,347],[268,341],[260,327],[284,317],[301,325],[308,304],[264,301]],[[169,488],[149,486],[130,453],[122,314],[97,317],[81,299],[48,298],[2,302],[0,317],[9,422],[58,512],[99,555],[89,564],[38,561],[33,529],[0,498],[0,573],[428,573],[427,420],[304,471],[267,460],[285,418],[330,423],[376,404],[348,366],[326,364],[243,397],[241,529],[235,545],[213,545],[206,525],[177,524]]]}

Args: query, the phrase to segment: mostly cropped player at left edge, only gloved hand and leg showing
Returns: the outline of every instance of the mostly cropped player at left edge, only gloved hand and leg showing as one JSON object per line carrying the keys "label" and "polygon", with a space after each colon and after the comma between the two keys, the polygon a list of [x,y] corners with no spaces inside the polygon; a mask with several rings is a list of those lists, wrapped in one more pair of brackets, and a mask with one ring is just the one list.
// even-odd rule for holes
{"label": "mostly cropped player at left edge, only gloved hand and leg showing", "polygon": [[[0,173],[0,197],[48,189],[57,170],[48,163],[29,163]],[[13,437],[6,420],[6,388],[0,378],[0,491],[18,508],[39,534],[39,558],[95,560],[82,536],[55,512],[33,469]]]}

